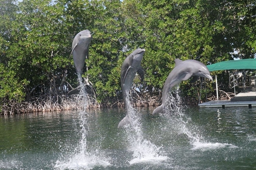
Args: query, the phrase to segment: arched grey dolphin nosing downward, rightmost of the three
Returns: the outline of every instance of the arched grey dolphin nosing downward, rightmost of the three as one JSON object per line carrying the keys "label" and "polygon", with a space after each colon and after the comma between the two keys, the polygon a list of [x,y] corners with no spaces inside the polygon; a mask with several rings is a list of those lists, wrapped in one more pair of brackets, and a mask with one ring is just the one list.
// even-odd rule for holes
{"label": "arched grey dolphin nosing downward, rightmost of the three", "polygon": [[200,61],[196,61],[193,59],[188,59],[185,61],[175,59],[175,67],[170,72],[164,83],[164,88],[162,91],[162,104],[154,109],[152,114],[154,115],[156,113],[163,113],[169,91],[172,89],[172,87],[178,85],[181,81],[188,80],[190,77],[192,77],[190,83],[196,82],[199,77],[206,77],[212,80],[210,71],[208,70],[206,65],[204,65]]}

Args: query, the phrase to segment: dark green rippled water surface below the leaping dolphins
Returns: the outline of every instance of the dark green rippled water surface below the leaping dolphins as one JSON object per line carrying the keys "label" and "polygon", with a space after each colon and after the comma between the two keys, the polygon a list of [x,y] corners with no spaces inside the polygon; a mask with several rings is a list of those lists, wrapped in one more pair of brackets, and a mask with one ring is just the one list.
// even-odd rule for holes
{"label": "dark green rippled water surface below the leaping dolphins", "polygon": [[124,109],[87,110],[83,154],[78,111],[0,116],[0,169],[256,168],[256,108],[153,110],[137,108],[144,140],[137,144],[136,134],[117,128]]}

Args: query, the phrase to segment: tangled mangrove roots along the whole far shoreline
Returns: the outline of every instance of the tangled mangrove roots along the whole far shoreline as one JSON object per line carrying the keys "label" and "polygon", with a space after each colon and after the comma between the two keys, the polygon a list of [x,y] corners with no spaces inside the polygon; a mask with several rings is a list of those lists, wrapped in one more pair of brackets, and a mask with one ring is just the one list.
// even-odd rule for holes
{"label": "tangled mangrove roots along the whole far shoreline", "polygon": [[[182,96],[182,94],[180,94]],[[232,96],[232,95],[231,95]],[[223,93],[220,95],[220,100],[226,100],[231,98],[230,94]],[[106,99],[104,103],[98,103],[93,95],[87,94],[88,104],[86,109],[93,108],[112,108],[112,107],[124,107],[124,101],[122,99],[117,99],[113,101]],[[216,100],[215,95],[210,94],[207,96],[207,101]],[[66,97],[65,95],[58,95],[57,97],[33,97],[29,101],[22,101],[18,103],[17,101],[10,101],[8,104],[3,104],[1,106],[0,115],[14,115],[21,113],[36,113],[36,112],[48,112],[48,111],[64,111],[64,110],[78,110],[84,109],[84,104],[82,102],[81,95],[72,95]],[[197,106],[198,99],[182,97],[182,102],[189,106]],[[200,100],[200,103],[205,101]],[[131,104],[133,107],[157,107],[161,105],[161,96],[149,94],[134,95],[132,97]]]}

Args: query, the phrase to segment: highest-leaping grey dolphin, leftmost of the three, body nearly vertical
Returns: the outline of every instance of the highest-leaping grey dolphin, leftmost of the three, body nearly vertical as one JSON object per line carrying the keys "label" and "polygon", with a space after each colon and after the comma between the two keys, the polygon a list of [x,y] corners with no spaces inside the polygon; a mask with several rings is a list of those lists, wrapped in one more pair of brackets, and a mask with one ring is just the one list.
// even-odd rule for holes
{"label": "highest-leaping grey dolphin, leftmost of the three, body nearly vertical", "polygon": [[89,46],[92,40],[92,34],[89,30],[83,30],[76,34],[73,43],[71,55],[73,55],[76,72],[82,74],[85,59],[89,58]]}

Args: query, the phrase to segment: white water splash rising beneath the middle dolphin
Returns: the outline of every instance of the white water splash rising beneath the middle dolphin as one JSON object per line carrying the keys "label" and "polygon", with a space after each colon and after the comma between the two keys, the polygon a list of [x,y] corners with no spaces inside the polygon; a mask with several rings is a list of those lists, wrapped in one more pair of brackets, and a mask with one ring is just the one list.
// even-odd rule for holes
{"label": "white water splash rising beneath the middle dolphin", "polygon": [[129,99],[126,100],[126,105],[126,108],[128,108],[126,112],[130,121],[130,124],[126,126],[126,135],[130,141],[129,150],[133,152],[133,159],[128,161],[130,165],[140,162],[156,163],[168,160],[168,156],[165,156],[164,151],[162,151],[162,146],[157,147],[152,142],[144,139],[139,113],[132,107]]}

